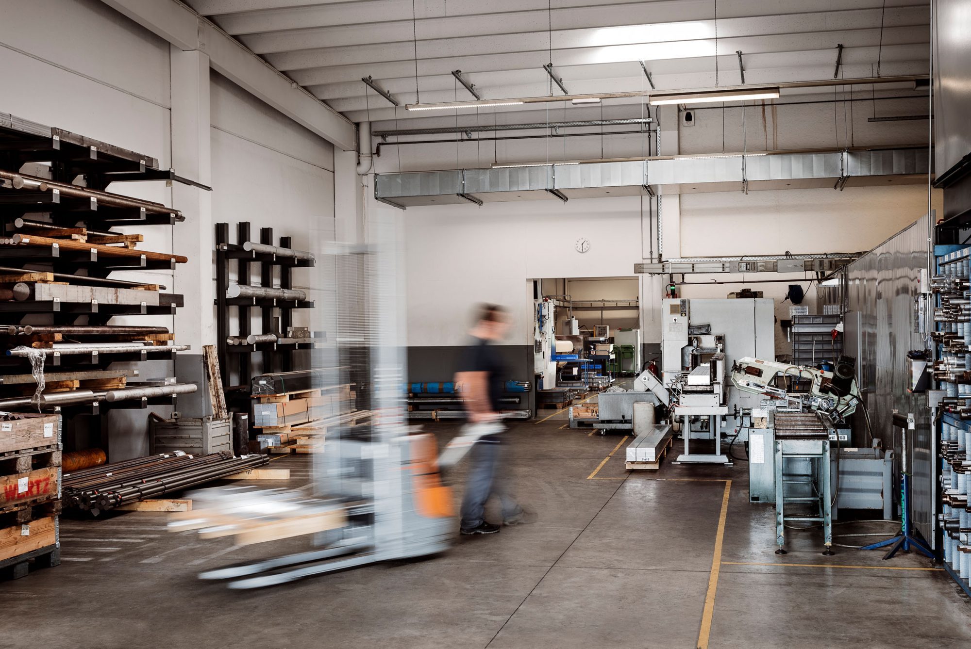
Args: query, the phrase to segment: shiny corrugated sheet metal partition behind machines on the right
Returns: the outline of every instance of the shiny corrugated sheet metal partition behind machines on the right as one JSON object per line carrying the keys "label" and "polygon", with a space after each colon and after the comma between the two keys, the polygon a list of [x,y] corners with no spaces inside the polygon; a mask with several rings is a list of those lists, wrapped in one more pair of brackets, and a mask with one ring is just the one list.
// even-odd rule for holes
{"label": "shiny corrugated sheet metal partition behind machines on the right", "polygon": [[[915,300],[921,269],[927,267],[927,216],[881,243],[847,269],[849,308],[858,311],[857,359],[860,391],[873,424],[874,437],[899,457],[900,429],[890,425],[892,411],[913,412],[917,431],[909,444],[913,513],[916,527],[933,542],[933,458],[927,399],[907,391],[906,354],[923,349],[921,335],[914,333]],[[857,329],[855,326],[852,327]],[[864,424],[856,426],[860,437]],[[865,436],[865,432],[863,433]],[[899,479],[899,467],[895,468]],[[894,482],[898,484],[898,482]]]}

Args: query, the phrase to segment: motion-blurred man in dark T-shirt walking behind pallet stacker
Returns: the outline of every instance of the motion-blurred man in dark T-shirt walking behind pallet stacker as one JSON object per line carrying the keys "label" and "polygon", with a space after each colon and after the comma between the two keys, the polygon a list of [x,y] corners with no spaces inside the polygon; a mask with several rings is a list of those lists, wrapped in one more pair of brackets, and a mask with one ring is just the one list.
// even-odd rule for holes
{"label": "motion-blurred man in dark T-shirt walking behind pallet stacker", "polygon": [[[499,419],[504,368],[491,344],[502,340],[509,328],[509,315],[496,305],[483,305],[472,331],[472,341],[461,361],[455,382],[462,386],[470,425]],[[495,435],[480,438],[472,448],[471,467],[462,499],[460,532],[463,535],[490,535],[499,526],[485,521],[485,502],[497,496],[502,503],[506,525],[523,521],[523,510],[509,493],[500,462],[501,440]]]}

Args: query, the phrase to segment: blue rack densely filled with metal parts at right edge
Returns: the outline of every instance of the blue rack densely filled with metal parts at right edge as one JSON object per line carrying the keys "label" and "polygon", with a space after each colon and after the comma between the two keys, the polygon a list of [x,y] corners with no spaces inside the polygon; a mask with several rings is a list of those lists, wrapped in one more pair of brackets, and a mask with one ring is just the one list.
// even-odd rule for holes
{"label": "blue rack densely filled with metal parts at right edge", "polygon": [[[940,432],[940,523],[948,571],[967,589],[971,578],[971,247],[937,246],[938,275],[931,279],[937,294],[934,310],[938,360],[934,378],[945,391]],[[946,248],[951,248],[945,251]],[[944,252],[944,254],[940,254]]]}

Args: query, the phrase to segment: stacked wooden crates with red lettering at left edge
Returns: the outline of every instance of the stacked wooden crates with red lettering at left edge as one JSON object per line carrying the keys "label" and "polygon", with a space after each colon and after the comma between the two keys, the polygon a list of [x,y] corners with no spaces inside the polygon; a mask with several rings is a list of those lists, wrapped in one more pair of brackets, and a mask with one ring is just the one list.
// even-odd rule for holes
{"label": "stacked wooden crates with red lettering at left edge", "polygon": [[0,414],[0,572],[60,564],[59,415]]}

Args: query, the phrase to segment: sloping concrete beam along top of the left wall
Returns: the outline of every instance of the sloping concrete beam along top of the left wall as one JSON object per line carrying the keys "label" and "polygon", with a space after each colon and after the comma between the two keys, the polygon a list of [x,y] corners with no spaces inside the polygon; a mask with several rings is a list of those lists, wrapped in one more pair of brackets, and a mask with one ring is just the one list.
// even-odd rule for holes
{"label": "sloping concrete beam along top of the left wall", "polygon": [[213,23],[176,0],[102,0],[179,49],[200,49],[210,65],[251,95],[344,150],[356,147],[350,119],[270,67]]}

